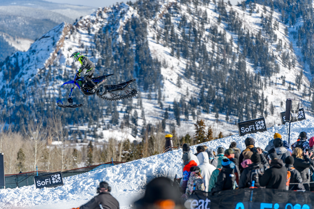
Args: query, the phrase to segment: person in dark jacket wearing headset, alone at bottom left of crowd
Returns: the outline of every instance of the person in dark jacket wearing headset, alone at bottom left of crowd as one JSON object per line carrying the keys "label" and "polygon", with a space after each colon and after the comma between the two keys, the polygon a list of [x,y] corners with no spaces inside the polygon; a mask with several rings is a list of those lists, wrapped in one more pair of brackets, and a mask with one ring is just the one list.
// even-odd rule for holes
{"label": "person in dark jacket wearing headset, alone at bottom left of crowd", "polygon": [[85,205],[79,207],[79,209],[95,209],[100,208],[100,205],[104,209],[119,209],[119,202],[111,196],[110,194],[111,187],[107,182],[102,181],[99,183],[99,187],[97,188],[97,193],[99,195],[95,196]]}

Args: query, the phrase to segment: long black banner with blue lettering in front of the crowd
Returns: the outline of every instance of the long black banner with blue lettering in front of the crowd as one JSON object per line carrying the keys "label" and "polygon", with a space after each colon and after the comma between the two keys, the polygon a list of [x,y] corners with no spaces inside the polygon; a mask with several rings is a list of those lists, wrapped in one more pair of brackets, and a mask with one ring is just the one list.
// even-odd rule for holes
{"label": "long black banner with blue lettering in front of the crowd", "polygon": [[314,193],[249,188],[225,190],[214,195],[194,191],[184,206],[187,209],[312,209]]}

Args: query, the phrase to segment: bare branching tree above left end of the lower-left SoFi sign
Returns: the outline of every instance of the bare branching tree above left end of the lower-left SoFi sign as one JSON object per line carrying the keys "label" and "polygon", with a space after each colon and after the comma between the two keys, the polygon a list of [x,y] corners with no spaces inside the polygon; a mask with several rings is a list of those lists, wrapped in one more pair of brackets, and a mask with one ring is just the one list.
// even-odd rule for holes
{"label": "bare branching tree above left end of the lower-left SoFi sign", "polygon": [[[45,146],[44,139],[47,135],[46,129],[43,126],[43,120],[30,120],[27,124],[27,130],[23,127],[28,142],[26,143],[30,147],[30,152],[33,157],[31,160],[33,169],[36,170],[36,165],[40,159],[40,151]],[[31,165],[31,166],[32,166]]]}

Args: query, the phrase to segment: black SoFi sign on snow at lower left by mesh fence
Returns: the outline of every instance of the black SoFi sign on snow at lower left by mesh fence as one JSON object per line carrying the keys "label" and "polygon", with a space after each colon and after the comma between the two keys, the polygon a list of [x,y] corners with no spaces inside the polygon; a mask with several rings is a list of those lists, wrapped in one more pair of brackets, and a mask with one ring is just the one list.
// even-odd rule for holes
{"label": "black SoFi sign on snow at lower left by mesh fence", "polygon": [[56,187],[63,185],[61,171],[52,174],[34,176],[34,181],[37,189],[43,187]]}

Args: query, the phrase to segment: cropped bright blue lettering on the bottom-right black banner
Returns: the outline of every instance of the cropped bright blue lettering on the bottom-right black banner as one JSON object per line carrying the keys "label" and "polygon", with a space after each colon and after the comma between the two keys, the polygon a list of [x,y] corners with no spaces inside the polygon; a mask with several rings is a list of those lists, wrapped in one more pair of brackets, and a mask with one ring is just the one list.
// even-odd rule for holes
{"label": "cropped bright blue lettering on the bottom-right black banner", "polygon": [[[311,209],[309,205],[300,205],[300,204],[291,204],[291,203],[260,203],[260,206],[258,207],[257,204],[259,203],[253,203],[255,207],[244,207],[244,204],[242,202],[238,202],[236,204],[235,209],[249,209],[249,208],[259,208],[259,209]],[[246,204],[248,205],[248,204]]]}

